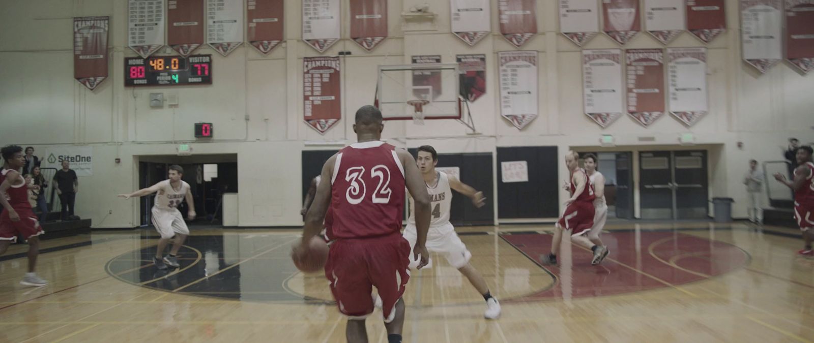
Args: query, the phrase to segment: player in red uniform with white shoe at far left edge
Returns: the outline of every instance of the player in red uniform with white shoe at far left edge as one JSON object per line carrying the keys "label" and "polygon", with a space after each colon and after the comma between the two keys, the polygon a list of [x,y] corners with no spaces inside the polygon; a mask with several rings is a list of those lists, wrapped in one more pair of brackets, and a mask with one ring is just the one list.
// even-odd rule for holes
{"label": "player in red uniform with white shoe at far left edge", "polygon": [[28,185],[20,172],[17,172],[25,165],[23,148],[8,145],[2,148],[2,158],[6,163],[0,170],[0,204],[4,209],[0,214],[0,255],[5,254],[8,246],[17,241],[17,235],[23,235],[28,241],[28,273],[20,284],[44,286],[48,282],[37,276],[34,268],[37,267],[37,255],[40,254],[38,236],[45,232],[28,202]]}

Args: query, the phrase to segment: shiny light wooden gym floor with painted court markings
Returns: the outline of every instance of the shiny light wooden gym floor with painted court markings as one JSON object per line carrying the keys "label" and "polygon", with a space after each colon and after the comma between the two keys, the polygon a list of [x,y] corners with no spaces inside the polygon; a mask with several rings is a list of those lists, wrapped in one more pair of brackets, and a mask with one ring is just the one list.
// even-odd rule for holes
{"label": "shiny light wooden gym floor with painted court markings", "polygon": [[[610,256],[564,245],[550,225],[459,228],[498,320],[466,278],[433,258],[414,271],[405,342],[814,341],[814,259],[799,232],[746,224],[609,224]],[[344,318],[324,276],[288,258],[298,230],[193,229],[181,267],[150,262],[155,232],[92,232],[44,241],[38,271],[19,284],[26,245],[0,257],[0,342],[341,342]],[[367,320],[385,342],[380,311]]]}

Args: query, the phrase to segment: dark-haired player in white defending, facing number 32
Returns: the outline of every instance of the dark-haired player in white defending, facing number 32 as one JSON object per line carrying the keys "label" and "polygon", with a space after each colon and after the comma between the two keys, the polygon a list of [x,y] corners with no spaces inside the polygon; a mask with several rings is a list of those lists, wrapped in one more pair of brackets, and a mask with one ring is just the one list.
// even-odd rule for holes
{"label": "dark-haired player in white defending, facing number 32", "polygon": [[[469,279],[469,282],[475,286],[475,289],[484,296],[487,306],[484,317],[496,319],[501,315],[501,304],[489,293],[489,287],[484,277],[469,263],[472,254],[469,250],[466,250],[466,245],[463,244],[461,238],[455,233],[453,225],[449,223],[449,205],[453,199],[452,189],[471,198],[472,203],[476,207],[484,206],[484,201],[486,200],[484,193],[478,192],[476,189],[457,180],[455,176],[435,171],[435,164],[438,163],[438,154],[430,145],[423,145],[418,148],[416,163],[418,164],[418,170],[422,172],[424,182],[427,184],[427,193],[430,194],[431,200],[432,212],[430,217],[430,231],[427,232],[427,250],[444,255],[444,258],[447,259],[447,262],[449,262],[452,267],[461,271],[461,273]],[[412,201],[413,199],[410,199],[410,209],[413,208]],[[412,251],[417,237],[415,214],[413,211],[410,211],[404,237],[409,241],[410,251]],[[427,267],[431,267],[431,263],[432,262],[430,262]],[[418,260],[411,254],[410,268],[417,266]]]}

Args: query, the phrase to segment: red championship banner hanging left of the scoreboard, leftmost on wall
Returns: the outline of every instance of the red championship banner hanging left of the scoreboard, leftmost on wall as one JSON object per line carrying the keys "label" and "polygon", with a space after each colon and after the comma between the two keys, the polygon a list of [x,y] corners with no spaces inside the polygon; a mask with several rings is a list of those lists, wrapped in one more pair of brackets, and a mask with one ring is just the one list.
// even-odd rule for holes
{"label": "red championship banner hanging left of the scoreboard, leftmost on wall", "polygon": [[110,17],[73,19],[73,78],[90,90],[107,79]]}

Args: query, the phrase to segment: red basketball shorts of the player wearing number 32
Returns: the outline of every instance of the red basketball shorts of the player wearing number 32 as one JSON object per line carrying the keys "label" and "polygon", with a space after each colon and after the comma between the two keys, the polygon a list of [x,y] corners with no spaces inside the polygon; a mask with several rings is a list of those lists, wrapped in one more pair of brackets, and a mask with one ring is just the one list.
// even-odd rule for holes
{"label": "red basketball shorts of the player wearing number 32", "polygon": [[387,237],[340,239],[330,245],[325,276],[339,312],[365,319],[373,312],[373,286],[382,298],[385,322],[395,317],[396,302],[409,280],[409,243],[400,233]]}

